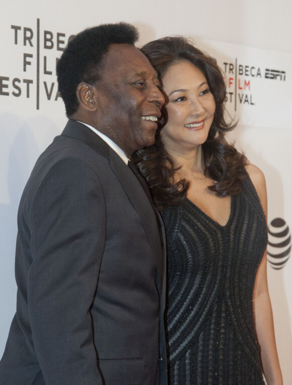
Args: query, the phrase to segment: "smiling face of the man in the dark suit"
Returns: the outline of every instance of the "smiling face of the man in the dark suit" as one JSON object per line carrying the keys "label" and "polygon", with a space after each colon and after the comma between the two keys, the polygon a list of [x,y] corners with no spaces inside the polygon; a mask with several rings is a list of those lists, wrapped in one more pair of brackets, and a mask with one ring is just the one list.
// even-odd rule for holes
{"label": "smiling face of the man in the dark suit", "polygon": [[157,119],[165,100],[157,74],[135,47],[112,44],[103,59],[96,128],[129,156],[154,143]]}

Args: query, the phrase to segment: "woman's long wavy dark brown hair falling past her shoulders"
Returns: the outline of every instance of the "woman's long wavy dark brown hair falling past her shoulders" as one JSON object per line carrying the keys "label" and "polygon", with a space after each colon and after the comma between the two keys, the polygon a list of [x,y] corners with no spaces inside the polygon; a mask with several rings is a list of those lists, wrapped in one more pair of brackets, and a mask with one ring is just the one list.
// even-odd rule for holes
{"label": "woman's long wavy dark brown hair falling past her shoulders", "polygon": [[[246,178],[244,157],[224,140],[225,133],[231,131],[236,124],[227,123],[225,119],[226,86],[223,72],[216,60],[181,36],[152,41],[144,45],[141,52],[157,71],[162,87],[163,76],[174,63],[189,61],[202,71],[216,105],[207,140],[201,146],[204,175],[214,181],[208,188],[218,196],[238,194]],[[156,204],[178,206],[186,199],[190,183],[186,179],[175,181],[179,167],[165,150],[160,136],[166,122],[167,111],[163,107],[155,143],[136,151],[132,159],[148,181]]]}

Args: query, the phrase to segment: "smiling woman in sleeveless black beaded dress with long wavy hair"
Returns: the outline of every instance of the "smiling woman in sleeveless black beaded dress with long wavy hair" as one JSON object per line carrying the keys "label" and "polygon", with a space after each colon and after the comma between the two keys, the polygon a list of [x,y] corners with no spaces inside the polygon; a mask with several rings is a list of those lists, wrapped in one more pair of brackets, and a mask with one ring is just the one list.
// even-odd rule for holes
{"label": "smiling woman in sleeveless black beaded dress with long wavy hair", "polygon": [[[170,385],[282,384],[266,276],[262,172],[224,135],[226,88],[215,59],[182,37],[142,52],[166,113],[135,155],[165,222]],[[147,87],[147,84],[144,84]]]}

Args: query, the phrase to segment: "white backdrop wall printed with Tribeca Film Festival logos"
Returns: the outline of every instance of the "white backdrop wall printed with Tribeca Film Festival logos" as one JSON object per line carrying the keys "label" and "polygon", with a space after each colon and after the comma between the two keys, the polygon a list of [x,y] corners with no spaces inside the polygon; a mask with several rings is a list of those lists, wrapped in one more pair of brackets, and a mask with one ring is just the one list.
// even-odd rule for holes
{"label": "white backdrop wall printed with Tribeca Film Festival logos", "polygon": [[[66,122],[57,94],[55,61],[69,36],[89,26],[126,21],[138,27],[139,46],[181,34],[192,37],[199,48],[215,56],[225,71],[229,110],[239,119],[229,138],[236,140],[237,147],[265,173],[268,222],[281,218],[291,228],[291,15],[290,0],[17,0],[2,4],[0,356],[16,307],[14,250],[19,199],[37,157]],[[278,250],[279,254],[288,246],[270,248],[270,252],[276,254]],[[269,263],[285,385],[292,385],[291,276],[291,260],[277,270]]]}

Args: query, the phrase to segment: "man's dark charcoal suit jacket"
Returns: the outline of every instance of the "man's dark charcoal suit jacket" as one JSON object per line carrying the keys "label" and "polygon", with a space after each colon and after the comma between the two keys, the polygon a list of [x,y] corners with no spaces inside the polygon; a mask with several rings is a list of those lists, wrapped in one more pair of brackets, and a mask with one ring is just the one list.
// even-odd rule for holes
{"label": "man's dark charcoal suit jacket", "polygon": [[160,225],[115,151],[69,120],[21,198],[1,383],[166,384]]}

